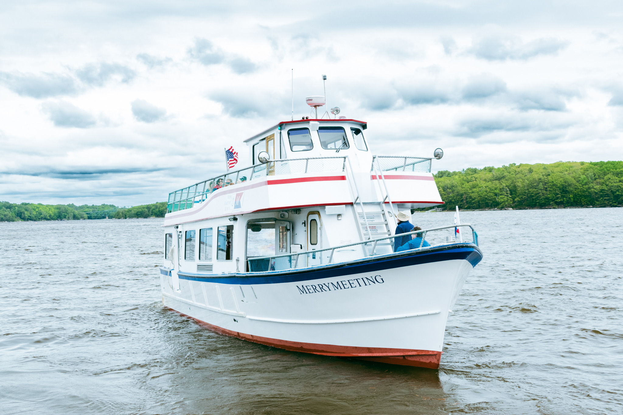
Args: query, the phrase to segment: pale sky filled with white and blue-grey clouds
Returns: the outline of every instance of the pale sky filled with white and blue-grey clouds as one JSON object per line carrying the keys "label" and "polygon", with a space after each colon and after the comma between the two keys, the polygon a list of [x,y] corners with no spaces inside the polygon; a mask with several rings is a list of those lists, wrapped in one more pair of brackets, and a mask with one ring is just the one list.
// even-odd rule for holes
{"label": "pale sky filled with white and blue-grey clouds", "polygon": [[[308,115],[434,170],[623,159],[621,1],[0,3],[0,200],[137,205]],[[239,164],[240,165],[240,164]]]}

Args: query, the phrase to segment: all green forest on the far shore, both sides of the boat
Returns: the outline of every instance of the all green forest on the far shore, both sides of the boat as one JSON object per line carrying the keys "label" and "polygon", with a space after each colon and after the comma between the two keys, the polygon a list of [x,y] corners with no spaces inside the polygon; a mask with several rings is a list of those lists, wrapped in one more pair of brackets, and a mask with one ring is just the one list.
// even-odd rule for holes
{"label": "all green forest on the far shore, both sides of the boat", "polygon": [[[435,182],[443,208],[454,210],[503,208],[611,207],[623,205],[623,161],[515,164],[441,170]],[[422,210],[428,210],[424,208]],[[79,220],[85,212],[110,212],[109,218],[163,218],[166,202],[131,208],[115,205],[44,205],[0,202],[0,221]]]}

